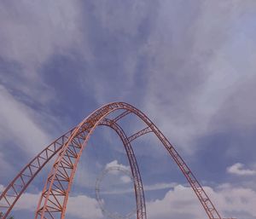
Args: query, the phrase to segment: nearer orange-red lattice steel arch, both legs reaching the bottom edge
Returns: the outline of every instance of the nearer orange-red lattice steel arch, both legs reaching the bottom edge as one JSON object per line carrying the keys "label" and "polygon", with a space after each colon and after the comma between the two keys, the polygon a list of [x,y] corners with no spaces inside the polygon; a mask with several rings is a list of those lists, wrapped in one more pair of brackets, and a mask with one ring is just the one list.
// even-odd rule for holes
{"label": "nearer orange-red lattice steel arch, both legs reaching the bottom edge", "polygon": [[[132,107],[131,105],[124,102],[114,102],[103,106],[95,112],[92,112],[89,117],[85,118],[84,121],[79,124],[77,130],[74,131],[74,134],[70,137],[67,144],[61,148],[60,156],[55,160],[55,164],[53,165],[47,183],[45,184],[44,192],[42,193],[41,202],[38,205],[38,210],[35,218],[44,218],[44,216],[46,218],[51,218],[59,216],[56,212],[60,213],[61,219],[65,217],[68,193],[70,191],[76,167],[79,162],[79,158],[83,152],[83,149],[86,146],[87,141],[89,141],[90,135],[96,129],[96,126],[100,123],[100,121],[103,118],[107,117],[108,114],[118,109],[125,109],[131,111],[135,113],[139,118],[142,118],[146,124],[148,124],[154,134],[157,135],[157,137],[166,147],[167,151],[172,156],[179,169],[183,172],[183,175],[186,177],[190,186],[193,188],[204,210],[206,210],[207,216],[210,219],[221,219],[221,216],[218,214],[218,211],[212,204],[212,201],[207,196],[207,193],[204,191],[203,187],[201,187],[201,184],[196,180],[188,165],[185,164],[183,158],[181,158],[181,156],[177,153],[172,144],[152,123],[152,121],[145,114],[143,114],[143,112],[140,112],[137,108]],[[80,147],[78,147],[78,152],[76,154],[77,156],[71,157],[70,151],[73,150],[73,141],[77,141],[80,138],[79,133],[81,133],[82,130],[86,130],[84,142],[80,144]],[[70,171],[66,170],[65,164],[67,163],[67,161],[69,161],[69,166],[73,166],[73,169],[68,169]],[[66,184],[62,183],[59,176],[57,175],[58,172],[63,171],[67,172],[68,182]],[[59,190],[61,190],[61,192],[59,192]],[[58,191],[58,193],[55,191]],[[58,205],[56,205],[56,202]]]}

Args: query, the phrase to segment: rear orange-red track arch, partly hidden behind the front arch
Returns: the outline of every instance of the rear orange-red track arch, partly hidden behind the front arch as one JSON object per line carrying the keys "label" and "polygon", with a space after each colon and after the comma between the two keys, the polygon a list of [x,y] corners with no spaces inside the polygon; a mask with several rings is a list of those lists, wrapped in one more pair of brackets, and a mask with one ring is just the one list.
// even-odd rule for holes
{"label": "rear orange-red track arch, partly hidden behind the front arch", "polygon": [[[125,113],[127,114],[127,113]],[[124,116],[124,114],[123,114]],[[120,117],[119,117],[120,118]],[[124,144],[125,151],[127,154],[127,158],[129,160],[131,166],[131,174],[134,181],[134,191],[136,195],[136,203],[137,203],[137,218],[146,219],[146,205],[144,199],[143,192],[143,182],[140,176],[140,172],[137,166],[137,159],[131,147],[130,141],[128,141],[127,135],[125,135],[125,131],[117,124],[115,121],[118,119],[108,119],[104,118],[99,125],[108,126],[112,128],[120,137],[121,141]],[[75,129],[75,128],[74,128]],[[73,130],[74,130],[73,129]],[[35,176],[38,175],[40,170],[44,168],[44,165],[49,162],[51,158],[55,156],[65,145],[68,140],[68,137],[72,134],[73,130],[68,131],[66,134],[61,135],[60,138],[53,141],[48,147],[46,147],[41,153],[32,159],[32,161],[26,165],[26,167],[20,171],[20,173],[15,176],[14,180],[9,183],[9,186],[5,188],[0,197],[0,208],[2,206],[5,211],[3,215],[0,215],[0,218],[5,219],[9,215],[9,212],[13,209],[15,203],[20,198],[22,193],[25,192],[26,187],[32,182]],[[144,132],[147,134],[148,132]],[[141,133],[142,135],[142,133]],[[18,189],[20,188],[20,189]],[[12,195],[10,195],[12,193]],[[0,210],[0,212],[3,210]]]}

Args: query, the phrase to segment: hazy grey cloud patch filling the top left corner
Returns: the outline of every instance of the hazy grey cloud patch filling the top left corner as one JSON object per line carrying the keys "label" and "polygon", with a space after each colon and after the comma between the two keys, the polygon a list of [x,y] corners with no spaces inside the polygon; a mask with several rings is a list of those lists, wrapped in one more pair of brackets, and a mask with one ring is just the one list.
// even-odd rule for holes
{"label": "hazy grey cloud patch filling the top left corner", "polygon": [[[15,15],[10,15],[11,12]],[[0,22],[4,32],[1,32],[0,55],[18,61],[30,70],[27,75],[36,78],[38,66],[50,55],[81,43],[79,13],[78,1],[2,2]]]}

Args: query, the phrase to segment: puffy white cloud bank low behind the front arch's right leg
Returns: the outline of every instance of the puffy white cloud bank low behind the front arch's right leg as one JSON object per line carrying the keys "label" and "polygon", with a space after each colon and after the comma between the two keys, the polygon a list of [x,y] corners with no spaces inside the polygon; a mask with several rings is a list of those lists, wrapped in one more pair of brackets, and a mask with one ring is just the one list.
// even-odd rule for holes
{"label": "puffy white cloud bank low behind the front arch's right leg", "polygon": [[[204,187],[213,205],[224,217],[255,218],[253,210],[256,203],[255,191],[244,187],[224,185],[214,191],[211,187]],[[166,193],[163,199],[156,199],[147,203],[148,218],[207,218],[198,199],[190,187],[178,185]]]}

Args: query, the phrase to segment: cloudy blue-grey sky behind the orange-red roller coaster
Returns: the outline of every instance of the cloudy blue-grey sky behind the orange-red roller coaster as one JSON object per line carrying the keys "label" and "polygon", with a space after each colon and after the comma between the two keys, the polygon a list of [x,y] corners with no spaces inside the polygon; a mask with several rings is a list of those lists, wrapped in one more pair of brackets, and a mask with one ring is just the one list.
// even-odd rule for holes
{"label": "cloudy blue-grey sky behind the orange-red roller coaster", "polygon": [[[254,0],[1,1],[0,189],[90,112],[125,101],[163,131],[223,216],[256,218],[255,24]],[[142,127],[136,118],[123,124],[130,134]],[[134,150],[149,219],[207,218],[153,135]],[[108,164],[128,163],[113,131],[99,128],[67,218],[104,218],[94,185]],[[17,218],[33,216],[49,168],[17,204]],[[128,212],[134,200],[122,195],[129,205],[106,197],[108,208]]]}

